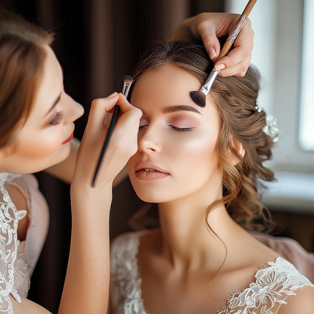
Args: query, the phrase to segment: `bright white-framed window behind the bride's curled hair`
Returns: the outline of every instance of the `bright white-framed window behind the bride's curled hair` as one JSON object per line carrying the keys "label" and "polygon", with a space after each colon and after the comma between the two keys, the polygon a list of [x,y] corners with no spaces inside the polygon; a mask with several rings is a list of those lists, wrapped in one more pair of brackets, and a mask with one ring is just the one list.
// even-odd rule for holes
{"label": "bright white-framed window behind the bride's curled hair", "polygon": [[[226,11],[241,14],[246,5],[247,0],[227,0]],[[314,174],[313,14],[312,0],[263,0],[249,15],[255,32],[251,62],[262,79],[258,100],[280,130],[275,171]]]}

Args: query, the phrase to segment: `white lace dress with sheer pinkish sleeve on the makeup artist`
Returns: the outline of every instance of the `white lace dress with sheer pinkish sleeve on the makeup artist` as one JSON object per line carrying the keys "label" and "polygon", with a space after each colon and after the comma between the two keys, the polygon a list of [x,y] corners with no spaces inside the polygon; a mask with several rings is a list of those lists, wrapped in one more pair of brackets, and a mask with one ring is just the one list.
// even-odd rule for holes
{"label": "white lace dress with sheer pinkish sleeve on the makeup artist", "polygon": [[[17,210],[5,188],[12,185],[19,189],[27,201],[29,227],[24,241],[19,241],[19,220],[26,210]],[[33,273],[49,227],[47,202],[38,190],[33,175],[0,173],[0,312],[13,313],[9,295],[21,302],[27,297]]]}

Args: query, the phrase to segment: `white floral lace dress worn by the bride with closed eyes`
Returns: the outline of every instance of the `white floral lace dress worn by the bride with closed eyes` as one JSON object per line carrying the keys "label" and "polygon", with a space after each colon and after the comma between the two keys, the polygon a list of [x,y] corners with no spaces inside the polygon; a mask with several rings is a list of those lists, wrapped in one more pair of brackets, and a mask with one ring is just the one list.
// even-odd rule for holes
{"label": "white floral lace dress worn by the bride with closed eyes", "polygon": [[[110,298],[115,313],[148,314],[141,298],[141,281],[137,267],[139,238],[147,231],[126,233],[111,244]],[[278,257],[269,267],[256,272],[256,281],[226,300],[219,314],[276,313],[280,304],[299,287],[314,285],[285,259]]]}

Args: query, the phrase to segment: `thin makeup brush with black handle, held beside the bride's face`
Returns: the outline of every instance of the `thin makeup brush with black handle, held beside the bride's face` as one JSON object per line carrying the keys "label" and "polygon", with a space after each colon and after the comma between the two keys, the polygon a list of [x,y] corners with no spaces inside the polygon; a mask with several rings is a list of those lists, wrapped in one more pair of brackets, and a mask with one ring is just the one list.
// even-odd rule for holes
{"label": "thin makeup brush with black handle, held beside the bride's face", "polygon": [[[124,76],[123,87],[122,87],[122,94],[124,95],[125,98],[128,95],[128,92],[130,90],[130,87],[131,87],[132,83],[133,83],[133,78],[131,76],[128,76],[128,75]],[[111,118],[111,121],[110,121],[110,124],[109,124],[109,128],[108,128],[108,133],[107,133],[105,142],[103,143],[103,146],[102,146],[102,149],[101,149],[101,152],[100,152],[100,156],[99,156],[98,163],[97,163],[97,166],[96,166],[94,178],[93,178],[93,181],[92,181],[92,187],[95,185],[95,180],[96,180],[96,177],[97,177],[97,174],[98,174],[101,162],[103,160],[104,154],[106,152],[107,146],[109,144],[109,140],[111,138],[114,126],[117,123],[119,112],[120,112],[120,107],[117,104],[114,107],[112,118]]]}

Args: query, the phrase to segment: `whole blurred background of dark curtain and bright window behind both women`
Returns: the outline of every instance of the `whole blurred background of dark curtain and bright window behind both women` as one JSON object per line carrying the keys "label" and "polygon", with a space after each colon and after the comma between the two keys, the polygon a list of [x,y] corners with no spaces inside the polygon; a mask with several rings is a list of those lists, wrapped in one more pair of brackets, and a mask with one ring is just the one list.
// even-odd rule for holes
{"label": "whole blurred background of dark curtain and bright window behind both women", "polygon": [[[270,166],[277,182],[263,201],[278,222],[278,235],[314,251],[314,65],[306,40],[314,33],[311,0],[257,1],[250,19],[255,31],[252,63],[261,72],[261,106],[277,118],[280,138]],[[66,92],[85,107],[76,122],[81,138],[91,100],[120,91],[139,51],[154,39],[169,38],[180,22],[201,12],[241,13],[243,0],[0,0],[7,10],[53,31],[52,45],[64,71]],[[306,33],[307,32],[307,33]],[[310,122],[309,122],[310,121]],[[71,230],[70,187],[36,174],[50,206],[50,229],[32,277],[29,298],[58,310]],[[82,191],[84,193],[84,191]],[[121,197],[123,196],[123,197]],[[113,191],[110,237],[130,230],[140,206],[129,180]],[[88,210],[88,208],[86,209]],[[79,274],[78,274],[79,275]]]}

